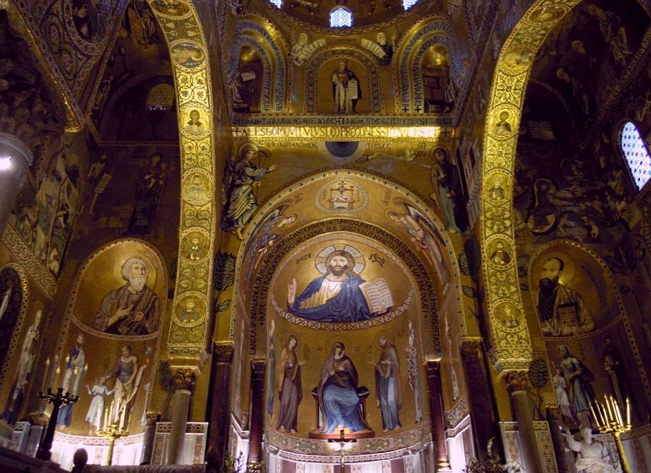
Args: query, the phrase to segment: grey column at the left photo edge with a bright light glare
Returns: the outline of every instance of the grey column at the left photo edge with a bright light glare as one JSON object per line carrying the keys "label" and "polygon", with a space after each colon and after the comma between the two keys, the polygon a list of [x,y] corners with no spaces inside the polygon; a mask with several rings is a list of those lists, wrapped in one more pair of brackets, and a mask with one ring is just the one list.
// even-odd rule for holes
{"label": "grey column at the left photo edge with a bright light glare", "polygon": [[21,189],[32,151],[19,138],[0,132],[0,235]]}

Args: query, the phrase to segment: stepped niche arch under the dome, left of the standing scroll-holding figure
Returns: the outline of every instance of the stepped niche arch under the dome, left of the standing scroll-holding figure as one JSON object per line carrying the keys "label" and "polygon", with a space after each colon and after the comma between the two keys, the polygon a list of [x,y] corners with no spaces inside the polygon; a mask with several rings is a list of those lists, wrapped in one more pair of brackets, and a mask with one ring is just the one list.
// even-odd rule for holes
{"label": "stepped niche arch under the dome, left of the standing scroll-holding figure", "polygon": [[[272,31],[269,32],[269,30]],[[235,81],[242,45],[251,46],[258,51],[265,62],[263,78],[263,87],[265,88],[263,90],[269,91],[269,93],[262,94],[262,113],[282,112],[285,109],[285,83],[291,81],[291,78],[288,76],[289,72],[285,63],[287,46],[282,40],[280,32],[267,19],[245,17],[238,21],[234,38],[225,80],[228,84]],[[276,38],[280,38],[281,42],[278,43]]]}

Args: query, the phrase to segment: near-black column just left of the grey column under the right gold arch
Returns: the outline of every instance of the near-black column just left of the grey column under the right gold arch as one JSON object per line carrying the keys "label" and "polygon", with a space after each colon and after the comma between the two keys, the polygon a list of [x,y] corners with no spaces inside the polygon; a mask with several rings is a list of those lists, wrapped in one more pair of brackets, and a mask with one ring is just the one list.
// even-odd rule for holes
{"label": "near-black column just left of the grey column under the right gold arch", "polygon": [[[493,415],[493,399],[488,386],[488,372],[485,369],[482,342],[464,340],[461,346],[464,366],[464,378],[468,389],[468,406],[471,406],[471,424],[477,458],[486,453],[486,446],[491,438],[499,439],[496,419]],[[499,442],[501,445],[502,442]]]}

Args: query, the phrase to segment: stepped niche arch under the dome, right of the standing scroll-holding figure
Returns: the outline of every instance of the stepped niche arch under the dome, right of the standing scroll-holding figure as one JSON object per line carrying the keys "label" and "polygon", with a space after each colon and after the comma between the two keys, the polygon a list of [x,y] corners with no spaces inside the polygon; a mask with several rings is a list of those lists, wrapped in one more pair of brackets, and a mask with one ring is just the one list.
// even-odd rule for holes
{"label": "stepped niche arch under the dome, right of the standing scroll-holding figure", "polygon": [[399,92],[395,97],[395,108],[400,112],[414,113],[420,107],[420,112],[424,113],[422,78],[418,72],[422,56],[433,45],[444,46],[448,52],[451,78],[460,87],[464,81],[461,52],[452,27],[444,17],[424,19],[410,28],[403,37],[407,40],[398,46],[397,60],[393,63],[393,77],[397,81],[395,89]]}

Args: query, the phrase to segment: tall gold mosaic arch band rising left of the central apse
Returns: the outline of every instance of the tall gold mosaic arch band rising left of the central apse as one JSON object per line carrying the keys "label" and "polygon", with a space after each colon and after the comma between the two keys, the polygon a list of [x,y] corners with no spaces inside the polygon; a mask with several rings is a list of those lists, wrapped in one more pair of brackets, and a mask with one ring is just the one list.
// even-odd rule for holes
{"label": "tall gold mosaic arch band rising left of the central apse", "polygon": [[[147,0],[149,6],[161,25],[165,36],[169,55],[172,59],[172,71],[176,89],[177,117],[180,145],[181,171],[181,202],[178,245],[178,273],[183,277],[176,278],[174,289],[174,305],[171,322],[169,322],[169,339],[167,354],[172,366],[196,367],[200,354],[205,350],[208,339],[210,318],[208,310],[203,314],[201,322],[192,328],[180,326],[174,322],[174,312],[178,303],[185,297],[200,299],[206,308],[210,307],[212,288],[212,253],[216,236],[216,205],[212,196],[215,189],[214,166],[214,105],[211,92],[211,78],[208,61],[208,49],[205,34],[199,20],[196,8],[192,2],[187,2],[187,14],[181,17],[169,17],[161,14],[154,0]],[[177,45],[194,50],[197,58],[192,63],[183,63],[175,54]],[[205,131],[200,133],[185,132],[184,118],[191,110],[200,112],[205,123]],[[206,220],[190,219],[189,215],[202,212],[209,216]],[[183,251],[187,248],[185,240],[195,232],[202,233],[207,238],[206,256],[200,260],[190,260]],[[185,280],[187,284],[180,284]],[[200,283],[200,284],[197,284]],[[192,294],[190,296],[190,294]],[[167,326],[165,327],[167,328]]]}

